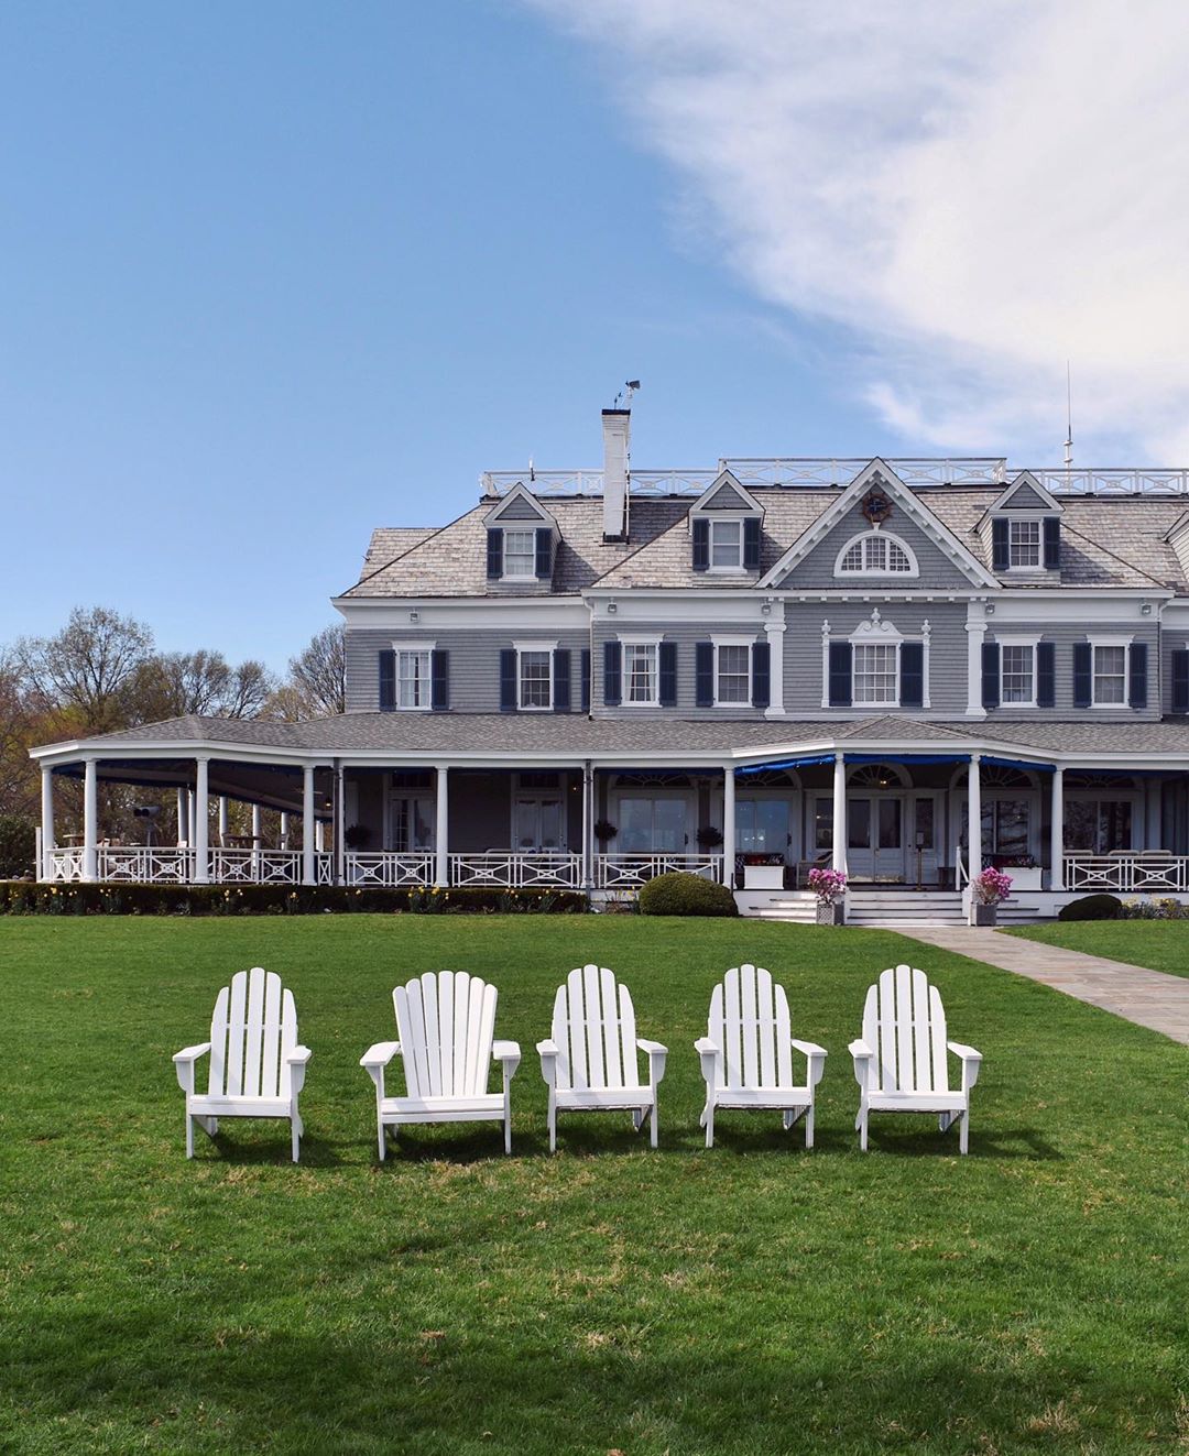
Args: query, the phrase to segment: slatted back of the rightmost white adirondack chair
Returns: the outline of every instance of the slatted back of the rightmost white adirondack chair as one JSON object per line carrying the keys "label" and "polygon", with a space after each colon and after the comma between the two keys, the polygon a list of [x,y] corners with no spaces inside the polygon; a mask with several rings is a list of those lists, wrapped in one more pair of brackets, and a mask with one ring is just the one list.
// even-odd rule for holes
{"label": "slatted back of the rightmost white adirondack chair", "polygon": [[946,1012],[924,971],[898,965],[867,992],[863,1040],[876,1054],[873,1091],[949,1092]]}

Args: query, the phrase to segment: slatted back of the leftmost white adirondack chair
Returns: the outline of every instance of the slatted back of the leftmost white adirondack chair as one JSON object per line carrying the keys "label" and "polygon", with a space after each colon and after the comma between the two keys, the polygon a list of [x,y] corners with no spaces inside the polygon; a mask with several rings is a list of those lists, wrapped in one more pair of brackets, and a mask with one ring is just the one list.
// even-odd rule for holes
{"label": "slatted back of the leftmost white adirondack chair", "polygon": [[210,1096],[289,1096],[286,1056],[297,1045],[293,992],[259,965],[236,971],[214,1003],[210,1041]]}

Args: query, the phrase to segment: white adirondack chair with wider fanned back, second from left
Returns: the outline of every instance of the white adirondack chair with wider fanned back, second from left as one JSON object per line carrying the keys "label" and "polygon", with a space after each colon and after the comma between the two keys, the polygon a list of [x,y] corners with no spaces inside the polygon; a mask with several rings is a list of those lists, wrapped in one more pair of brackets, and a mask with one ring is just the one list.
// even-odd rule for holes
{"label": "white adirondack chair with wider fanned back, second from left", "polygon": [[[380,1160],[385,1128],[402,1123],[500,1123],[511,1152],[509,1085],[520,1066],[514,1041],[494,1041],[497,990],[466,971],[425,971],[392,993],[399,1041],[377,1041],[360,1059],[376,1083]],[[399,1053],[405,1095],[389,1096],[385,1067]],[[503,1064],[503,1092],[488,1092],[493,1061]]]}

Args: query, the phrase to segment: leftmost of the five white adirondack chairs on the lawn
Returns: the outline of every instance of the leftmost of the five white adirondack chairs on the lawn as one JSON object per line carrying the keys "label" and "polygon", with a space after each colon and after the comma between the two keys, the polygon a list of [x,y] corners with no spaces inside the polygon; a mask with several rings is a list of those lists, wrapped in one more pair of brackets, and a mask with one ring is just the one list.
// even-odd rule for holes
{"label": "leftmost of the five white adirondack chairs on the lawn", "polygon": [[[195,1063],[210,1053],[205,1093],[195,1091]],[[256,965],[236,971],[214,1003],[210,1041],[173,1057],[178,1086],[187,1096],[187,1158],[194,1158],[194,1124],[211,1137],[220,1117],[289,1118],[293,1162],[305,1125],[297,1095],[306,1080],[309,1047],[297,1042],[293,992],[275,971]]]}

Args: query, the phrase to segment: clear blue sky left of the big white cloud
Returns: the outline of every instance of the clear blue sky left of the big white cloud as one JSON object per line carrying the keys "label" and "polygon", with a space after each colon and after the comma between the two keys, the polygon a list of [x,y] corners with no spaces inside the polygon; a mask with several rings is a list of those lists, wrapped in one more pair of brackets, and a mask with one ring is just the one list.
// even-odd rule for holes
{"label": "clear blue sky left of the big white cloud", "polygon": [[[788,213],[806,135],[752,119],[740,146],[696,109],[747,86],[723,9],[643,12],[4,6],[0,642],[103,603],[165,648],[280,668],[332,620],[373,526],[442,523],[479,470],[529,456],[597,464],[628,377],[638,466],[1035,443],[1055,463],[1064,341],[1024,361],[1048,370],[1039,415],[933,408],[921,360],[962,339],[934,347],[921,307],[889,322],[877,303],[867,331],[838,303],[863,258],[851,288],[785,256],[800,237],[839,252],[828,220]],[[731,13],[742,39],[793,22],[823,64],[839,39],[798,7]]]}

